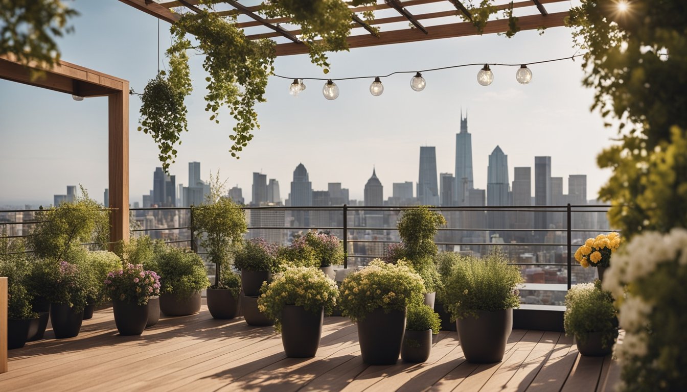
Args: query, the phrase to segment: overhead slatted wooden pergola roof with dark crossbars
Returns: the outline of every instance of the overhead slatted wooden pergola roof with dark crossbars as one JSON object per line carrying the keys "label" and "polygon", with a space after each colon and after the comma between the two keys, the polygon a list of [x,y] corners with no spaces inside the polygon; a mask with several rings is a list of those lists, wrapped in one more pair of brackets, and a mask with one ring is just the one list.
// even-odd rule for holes
{"label": "overhead slatted wooden pergola roof with dark crossbars", "polygon": [[[181,7],[181,10],[188,12],[201,12],[198,7],[199,0],[120,0],[122,3],[131,5],[134,8],[142,10],[147,14],[156,16],[157,18],[174,23],[178,21],[181,15],[174,12],[173,8]],[[381,1],[381,0],[380,0]],[[546,27],[559,27],[565,24],[565,17],[569,12],[549,13],[545,4],[550,3],[567,3],[567,0],[525,0],[513,1],[513,9],[523,9],[525,15],[519,16],[518,27],[520,30],[536,30]],[[277,56],[289,56],[293,54],[308,53],[308,47],[298,40],[297,36],[300,30],[286,30],[280,26],[282,23],[287,25],[291,21],[288,18],[265,19],[260,16],[260,5],[248,7],[241,5],[236,0],[224,0],[227,6],[231,7],[228,10],[215,12],[218,15],[226,16],[229,14],[243,14],[248,16],[253,21],[243,21],[238,23],[238,27],[247,29],[249,27],[267,27],[271,32],[262,32],[260,34],[248,34],[247,37],[251,39],[258,38],[286,38],[292,42],[278,43],[276,45]],[[420,8],[422,5],[429,5],[431,3],[443,3],[449,5],[449,10],[440,12],[426,12],[418,13],[418,11],[410,12],[406,7]],[[510,7],[510,3],[503,3],[497,5],[497,9],[506,10]],[[425,27],[422,23],[424,20],[455,17],[471,19],[473,11],[466,8],[461,0],[383,0],[376,5],[365,5],[360,7],[350,8],[352,12],[351,27],[363,28],[370,34],[352,35],[348,37],[348,45],[350,48],[354,47],[369,47],[376,45],[389,45],[394,43],[408,43],[414,41],[426,41],[439,38],[451,38],[457,36],[476,35],[477,29],[470,21],[460,21],[458,23],[448,23],[443,25],[434,25]],[[380,10],[396,10],[398,16],[377,18],[375,15],[374,21],[369,25],[357,16],[357,12],[366,11],[380,11]],[[420,10],[419,12],[423,12]],[[528,13],[529,12],[529,13]],[[462,19],[460,19],[462,20]],[[370,25],[378,26],[387,23],[407,22],[412,24],[412,28],[405,28],[402,30],[382,31],[375,34],[370,28]],[[484,28],[482,34],[502,33],[508,31],[508,20],[498,19],[489,21]]]}

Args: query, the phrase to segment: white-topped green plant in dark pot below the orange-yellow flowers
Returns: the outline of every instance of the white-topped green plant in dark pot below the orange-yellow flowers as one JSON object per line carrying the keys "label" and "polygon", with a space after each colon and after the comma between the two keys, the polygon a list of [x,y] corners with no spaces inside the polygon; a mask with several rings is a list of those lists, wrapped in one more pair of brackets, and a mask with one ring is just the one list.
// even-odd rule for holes
{"label": "white-topped green plant in dark pot below the orange-yellow flowers", "polygon": [[576,284],[565,295],[563,326],[574,336],[585,356],[607,356],[618,337],[618,312],[611,292],[601,290],[601,281]]}

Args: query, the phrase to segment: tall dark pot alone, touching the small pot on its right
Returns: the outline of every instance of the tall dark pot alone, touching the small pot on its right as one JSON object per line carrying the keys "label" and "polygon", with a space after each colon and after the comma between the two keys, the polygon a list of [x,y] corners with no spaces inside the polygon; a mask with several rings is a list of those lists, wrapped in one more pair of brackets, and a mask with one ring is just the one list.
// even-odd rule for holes
{"label": "tall dark pot alone, touching the small pot on its right", "polygon": [[385,313],[376,308],[358,321],[358,341],[363,362],[369,365],[395,365],[401,354],[405,332],[405,309]]}

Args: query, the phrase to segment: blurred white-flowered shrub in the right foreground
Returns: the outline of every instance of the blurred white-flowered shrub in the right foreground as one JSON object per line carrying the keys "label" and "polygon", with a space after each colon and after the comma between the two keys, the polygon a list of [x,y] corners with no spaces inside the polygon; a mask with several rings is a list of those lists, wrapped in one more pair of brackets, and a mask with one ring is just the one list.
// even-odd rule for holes
{"label": "blurred white-flowered shrub in the right foreground", "polygon": [[613,256],[602,287],[625,331],[614,349],[623,391],[687,390],[687,230],[635,235]]}

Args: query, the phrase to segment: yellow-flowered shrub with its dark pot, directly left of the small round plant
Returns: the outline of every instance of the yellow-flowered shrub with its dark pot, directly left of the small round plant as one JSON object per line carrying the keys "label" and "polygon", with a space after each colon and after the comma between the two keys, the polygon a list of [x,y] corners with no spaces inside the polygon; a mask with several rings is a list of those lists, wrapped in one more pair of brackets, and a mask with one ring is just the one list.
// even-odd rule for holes
{"label": "yellow-flowered shrub with its dark pot, directly left of the small round plant", "polygon": [[423,279],[401,261],[376,259],[341,283],[341,313],[358,324],[363,362],[394,365],[401,354],[407,305],[421,303]]}

